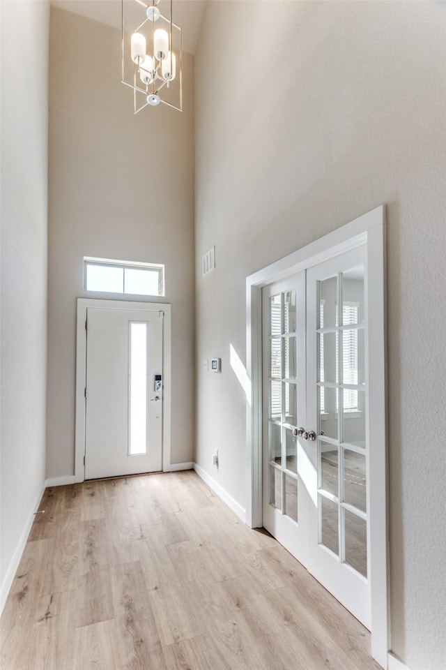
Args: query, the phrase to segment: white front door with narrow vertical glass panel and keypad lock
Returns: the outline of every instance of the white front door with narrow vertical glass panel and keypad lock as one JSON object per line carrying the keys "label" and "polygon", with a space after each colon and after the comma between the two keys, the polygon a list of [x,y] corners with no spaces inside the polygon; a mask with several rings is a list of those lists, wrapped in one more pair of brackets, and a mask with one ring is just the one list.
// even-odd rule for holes
{"label": "white front door with narrow vertical glass panel and keypad lock", "polygon": [[86,479],[162,469],[163,316],[87,308]]}

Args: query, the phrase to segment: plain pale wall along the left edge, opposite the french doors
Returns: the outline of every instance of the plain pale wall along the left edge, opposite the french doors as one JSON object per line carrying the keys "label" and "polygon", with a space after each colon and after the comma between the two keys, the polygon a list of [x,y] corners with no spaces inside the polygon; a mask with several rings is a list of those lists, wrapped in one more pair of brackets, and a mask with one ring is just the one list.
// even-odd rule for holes
{"label": "plain pale wall along the left edge, opposite the french doors", "polygon": [[45,482],[49,6],[3,0],[0,12],[3,605]]}

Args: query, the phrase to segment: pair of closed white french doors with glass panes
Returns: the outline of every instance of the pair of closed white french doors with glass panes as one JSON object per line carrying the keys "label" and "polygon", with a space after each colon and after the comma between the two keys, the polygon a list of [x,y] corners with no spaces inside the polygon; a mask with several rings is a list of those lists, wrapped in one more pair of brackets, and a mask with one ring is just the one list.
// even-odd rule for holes
{"label": "pair of closed white french doors with glass panes", "polygon": [[370,628],[365,265],[263,289],[263,525]]}

